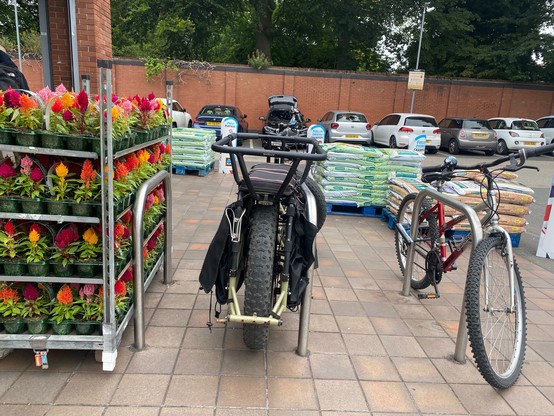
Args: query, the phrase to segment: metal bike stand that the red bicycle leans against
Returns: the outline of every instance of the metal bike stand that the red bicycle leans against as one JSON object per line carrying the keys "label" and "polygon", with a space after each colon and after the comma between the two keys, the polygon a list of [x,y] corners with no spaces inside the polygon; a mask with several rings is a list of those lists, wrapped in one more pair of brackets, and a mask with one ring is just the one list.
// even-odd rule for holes
{"label": "metal bike stand that the red bicycle leans against", "polygon": [[[416,196],[416,199],[414,200],[412,218],[414,215],[417,215],[414,213],[417,213],[420,211],[421,206],[423,204],[423,200],[427,197],[433,200],[440,201],[444,205],[447,205],[451,208],[456,209],[457,211],[460,211],[467,217],[469,221],[469,225],[471,226],[471,235],[473,239],[471,250],[473,251],[475,247],[477,247],[477,244],[479,244],[479,242],[483,239],[483,230],[481,229],[481,221],[479,220],[479,217],[477,216],[475,209],[459,201],[451,199],[441,194],[439,191],[435,189],[424,189],[418,193],[418,195]],[[418,222],[412,221],[412,228],[410,230],[410,235],[417,235],[418,228],[419,228]],[[410,296],[410,280],[412,276],[412,269],[413,269],[413,262],[414,262],[414,251],[415,251],[415,244],[410,244],[408,248],[408,253],[406,256],[406,268],[404,269],[404,285],[402,288],[403,296]],[[466,352],[466,346],[467,346],[467,326],[466,326],[465,310],[466,309],[465,309],[465,294],[464,294],[464,299],[462,300],[462,307],[461,307],[461,313],[460,313],[460,323],[458,325],[458,335],[456,337],[456,349],[454,351],[454,360],[460,363],[465,362],[465,352]]]}

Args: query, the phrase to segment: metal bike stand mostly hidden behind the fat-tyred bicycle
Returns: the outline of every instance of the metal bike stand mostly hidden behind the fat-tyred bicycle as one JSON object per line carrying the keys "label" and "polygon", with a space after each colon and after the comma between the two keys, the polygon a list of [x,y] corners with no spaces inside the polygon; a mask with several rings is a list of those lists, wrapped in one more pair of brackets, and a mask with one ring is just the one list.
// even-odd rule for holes
{"label": "metal bike stand mostly hidden behind the fat-tyred bicycle", "polygon": [[[315,226],[317,226],[317,206],[315,197],[309,190],[306,184],[302,184],[302,189],[306,195],[306,206],[308,208],[308,220]],[[314,254],[315,254],[316,242],[314,240]],[[304,291],[302,298],[302,306],[300,307],[300,322],[298,323],[298,347],[296,353],[302,357],[308,355],[308,334],[310,332],[310,311],[312,307],[312,285],[313,285],[313,272],[314,265],[308,270],[308,286]]]}

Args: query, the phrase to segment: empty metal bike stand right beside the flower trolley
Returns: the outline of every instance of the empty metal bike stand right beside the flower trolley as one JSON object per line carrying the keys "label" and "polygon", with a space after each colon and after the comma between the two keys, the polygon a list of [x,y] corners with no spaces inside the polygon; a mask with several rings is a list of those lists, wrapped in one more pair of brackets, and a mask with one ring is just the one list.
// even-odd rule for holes
{"label": "empty metal bike stand right beside the flower trolley", "polygon": [[[171,275],[171,175],[169,172],[162,170],[156,173],[152,178],[143,183],[137,191],[135,204],[133,207],[133,250],[135,252],[133,271],[134,271],[134,306],[135,306],[135,349],[140,351],[144,349],[144,259],[142,257],[142,248],[144,246],[144,203],[148,194],[156,188],[160,183],[165,185],[166,195],[166,214],[165,214],[165,248],[164,248],[164,280],[165,284],[170,284]],[[152,272],[155,274],[155,271]],[[148,276],[147,276],[148,277]]]}

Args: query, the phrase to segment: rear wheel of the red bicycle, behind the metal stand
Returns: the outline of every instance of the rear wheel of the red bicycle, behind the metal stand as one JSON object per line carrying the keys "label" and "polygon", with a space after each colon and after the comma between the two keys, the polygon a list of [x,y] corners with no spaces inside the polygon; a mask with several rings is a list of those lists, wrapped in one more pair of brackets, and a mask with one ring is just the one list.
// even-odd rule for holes
{"label": "rear wheel of the red bicycle, behind the metal stand", "polygon": [[[408,194],[404,197],[396,217],[396,223],[400,224],[407,234],[410,234],[412,227],[414,200],[416,199],[416,196],[417,194]],[[420,215],[430,207],[431,204],[429,201],[423,201],[420,209]],[[419,220],[419,217],[420,216],[417,216],[416,219]],[[438,238],[439,226],[437,224],[437,214],[433,213],[427,217],[425,222],[420,224],[418,234],[415,238],[413,238],[415,253],[410,283],[412,289],[425,289],[431,284],[431,280],[427,275],[425,260],[427,258],[427,253],[429,253],[429,251],[431,251],[431,249],[435,246],[435,242]],[[404,274],[404,270],[406,270],[409,245],[406,243],[404,238],[402,238],[402,235],[396,227],[394,228],[394,247],[396,249],[396,258],[398,259],[400,271]]]}

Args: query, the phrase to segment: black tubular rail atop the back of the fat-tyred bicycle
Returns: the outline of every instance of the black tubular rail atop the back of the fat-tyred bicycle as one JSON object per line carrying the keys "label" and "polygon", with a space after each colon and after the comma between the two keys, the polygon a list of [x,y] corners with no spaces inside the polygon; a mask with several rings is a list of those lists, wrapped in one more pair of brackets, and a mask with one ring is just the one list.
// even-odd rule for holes
{"label": "black tubular rail atop the back of the fat-tyred bicycle", "polygon": [[[311,144],[313,145],[313,151],[315,153],[306,152],[288,152],[285,150],[272,150],[272,149],[255,149],[249,147],[234,147],[231,142],[235,139],[267,139],[267,140],[279,140],[284,143],[296,143],[296,144]],[[219,153],[230,153],[250,156],[264,156],[275,157],[283,159],[300,159],[309,160],[313,162],[323,161],[327,159],[327,152],[319,145],[316,139],[308,139],[306,137],[298,136],[272,136],[269,134],[257,134],[257,133],[233,133],[228,136],[222,137],[217,142],[212,144],[212,150]]]}

